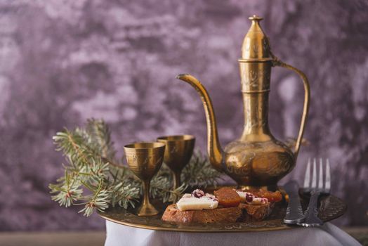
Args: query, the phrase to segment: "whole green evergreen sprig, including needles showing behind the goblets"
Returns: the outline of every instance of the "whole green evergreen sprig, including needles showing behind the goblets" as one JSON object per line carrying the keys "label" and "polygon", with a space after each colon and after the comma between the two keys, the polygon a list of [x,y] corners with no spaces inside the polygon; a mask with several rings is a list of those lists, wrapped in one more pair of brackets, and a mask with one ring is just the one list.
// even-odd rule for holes
{"label": "whole green evergreen sprig, including needles showing behind the goblets", "polygon": [[[52,200],[60,206],[83,205],[79,211],[90,216],[96,209],[135,207],[143,193],[142,183],[129,167],[117,162],[110,129],[103,120],[88,119],[86,127],[58,132],[56,150],[63,153],[65,174],[50,184]],[[171,171],[165,164],[151,181],[150,196],[173,202],[190,187],[216,186],[220,176],[208,160],[196,152],[183,169],[182,185],[173,190]]]}

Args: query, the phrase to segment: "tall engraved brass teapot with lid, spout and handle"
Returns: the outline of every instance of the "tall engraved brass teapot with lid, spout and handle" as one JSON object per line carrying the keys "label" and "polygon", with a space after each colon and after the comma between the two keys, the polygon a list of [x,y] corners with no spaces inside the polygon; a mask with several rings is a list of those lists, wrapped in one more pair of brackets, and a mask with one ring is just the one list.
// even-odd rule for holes
{"label": "tall engraved brass teapot with lid, spout and handle", "polygon": [[[218,141],[215,114],[211,98],[204,86],[192,75],[178,75],[178,79],[193,86],[202,99],[207,123],[207,151],[209,161],[219,171],[225,171],[241,188],[277,189],[277,181],[288,174],[296,164],[308,115],[310,89],[307,77],[300,70],[283,63],[270,49],[268,37],[260,26],[259,18],[249,18],[251,27],[244,37],[242,58],[239,61],[244,104],[244,131],[242,136],[225,149]],[[301,127],[294,150],[278,141],[268,127],[268,93],[271,67],[280,66],[296,72],[304,84],[305,98]]]}

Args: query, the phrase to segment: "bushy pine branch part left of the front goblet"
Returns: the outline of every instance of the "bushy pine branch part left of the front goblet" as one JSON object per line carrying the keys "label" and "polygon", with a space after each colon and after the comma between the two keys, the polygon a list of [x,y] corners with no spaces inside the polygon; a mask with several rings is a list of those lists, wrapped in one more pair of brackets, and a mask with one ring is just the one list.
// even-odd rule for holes
{"label": "bushy pine branch part left of the front goblet", "polygon": [[[140,185],[127,184],[132,179],[131,171],[110,161],[115,153],[110,139],[105,122],[96,119],[89,119],[86,129],[65,129],[53,137],[56,150],[62,151],[67,160],[65,178],[49,186],[56,194],[52,199],[60,206],[84,205],[80,212],[89,216],[109,205],[127,207],[137,202]],[[83,195],[83,190],[91,195]]]}

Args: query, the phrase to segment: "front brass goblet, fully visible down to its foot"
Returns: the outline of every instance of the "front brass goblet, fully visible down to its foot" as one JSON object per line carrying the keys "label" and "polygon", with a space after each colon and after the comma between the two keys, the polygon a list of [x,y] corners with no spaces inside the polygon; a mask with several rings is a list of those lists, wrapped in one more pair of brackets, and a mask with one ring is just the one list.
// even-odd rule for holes
{"label": "front brass goblet, fully visible down to its foot", "polygon": [[132,143],[124,146],[124,152],[131,171],[143,181],[143,202],[138,208],[138,216],[158,214],[157,209],[150,203],[150,181],[162,165],[165,144]]}

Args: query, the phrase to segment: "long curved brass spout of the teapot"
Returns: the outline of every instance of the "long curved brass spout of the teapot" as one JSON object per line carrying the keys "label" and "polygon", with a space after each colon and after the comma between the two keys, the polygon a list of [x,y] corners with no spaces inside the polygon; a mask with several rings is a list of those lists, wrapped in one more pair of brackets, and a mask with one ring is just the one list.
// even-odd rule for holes
{"label": "long curved brass spout of the teapot", "polygon": [[218,171],[224,171],[223,169],[223,150],[218,141],[218,132],[216,126],[215,113],[213,112],[213,106],[209,93],[198,79],[192,75],[178,75],[177,79],[187,82],[195,88],[201,97],[204,112],[206,113],[207,123],[207,153],[209,155],[209,162]]}

